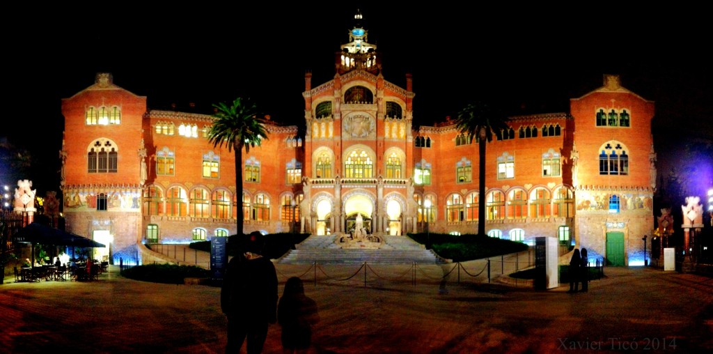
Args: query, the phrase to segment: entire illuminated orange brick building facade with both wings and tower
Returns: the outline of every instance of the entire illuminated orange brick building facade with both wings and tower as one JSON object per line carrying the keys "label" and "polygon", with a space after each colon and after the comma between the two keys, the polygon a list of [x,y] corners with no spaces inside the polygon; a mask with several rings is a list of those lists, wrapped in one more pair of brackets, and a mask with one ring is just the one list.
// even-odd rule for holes
{"label": "entire illuminated orange brick building facade with both wings and tower", "polygon": [[[153,236],[188,243],[235,234],[237,212],[245,213],[246,233],[348,233],[357,214],[369,233],[420,232],[422,201],[429,199],[429,231],[475,233],[481,198],[475,139],[461,136],[448,119],[414,128],[411,77],[406,88],[386,81],[366,31],[350,36],[335,67],[334,79],[318,86],[305,76],[304,127],[269,121],[262,146],[242,151],[244,207],[234,152],[205,137],[211,116],[151,110],[145,97],[99,74],[93,86],[62,102],[68,230],[88,237],[108,231],[104,252],[116,262]],[[118,109],[120,121],[88,118],[102,109]],[[608,118],[597,125],[601,112],[616,113],[617,126]],[[569,113],[511,117],[512,132],[487,145],[486,231],[525,242],[569,234],[564,242],[588,248],[590,257],[615,252],[623,264],[643,259],[637,240],[653,228],[653,114],[652,102],[605,76],[604,86],[571,100]],[[111,153],[93,156],[93,148],[113,148],[116,160]],[[602,148],[617,152],[616,168],[627,171],[612,174],[607,164],[602,173]],[[116,171],[102,171],[102,161]],[[430,183],[417,168],[430,172]]]}

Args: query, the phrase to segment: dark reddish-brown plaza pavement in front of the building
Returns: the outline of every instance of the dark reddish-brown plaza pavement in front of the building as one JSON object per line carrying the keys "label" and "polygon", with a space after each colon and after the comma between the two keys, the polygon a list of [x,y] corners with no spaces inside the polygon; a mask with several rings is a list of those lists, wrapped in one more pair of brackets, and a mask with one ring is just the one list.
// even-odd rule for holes
{"label": "dark reddish-brown plaza pavement in front of the building", "polygon": [[[297,275],[319,305],[310,353],[713,350],[711,278],[606,268],[588,293],[569,294],[565,284],[538,291],[506,275],[488,283],[482,264],[367,265],[366,279],[354,265],[277,264],[277,273],[280,295]],[[0,353],[223,353],[219,295],[210,285],[130,280],[116,266],[93,282],[6,277]],[[264,353],[282,353],[278,325]]]}

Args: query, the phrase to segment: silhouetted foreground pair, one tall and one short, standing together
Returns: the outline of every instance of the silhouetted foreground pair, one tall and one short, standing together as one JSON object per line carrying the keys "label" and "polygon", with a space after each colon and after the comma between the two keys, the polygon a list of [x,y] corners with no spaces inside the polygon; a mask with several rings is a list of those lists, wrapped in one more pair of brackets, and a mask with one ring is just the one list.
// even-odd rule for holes
{"label": "silhouetted foreground pair, one tall and one short, standing together", "polygon": [[284,353],[306,353],[311,345],[312,325],[319,321],[317,303],[304,295],[302,280],[292,277],[277,303],[277,272],[270,258],[263,257],[265,236],[250,233],[244,251],[227,265],[220,292],[220,305],[227,315],[225,353],[240,353],[247,338],[247,353],[262,353],[270,323],[282,328]]}

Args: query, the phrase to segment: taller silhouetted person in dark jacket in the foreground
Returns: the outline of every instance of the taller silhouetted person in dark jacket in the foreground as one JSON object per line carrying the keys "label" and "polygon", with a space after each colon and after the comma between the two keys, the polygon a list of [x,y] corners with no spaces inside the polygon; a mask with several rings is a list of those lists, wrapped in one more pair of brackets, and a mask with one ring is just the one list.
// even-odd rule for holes
{"label": "taller silhouetted person in dark jacket in the foreground", "polygon": [[262,353],[267,328],[277,322],[277,272],[263,257],[265,239],[250,233],[245,252],[227,265],[220,292],[220,307],[227,316],[225,353],[240,353],[247,338],[247,353]]}

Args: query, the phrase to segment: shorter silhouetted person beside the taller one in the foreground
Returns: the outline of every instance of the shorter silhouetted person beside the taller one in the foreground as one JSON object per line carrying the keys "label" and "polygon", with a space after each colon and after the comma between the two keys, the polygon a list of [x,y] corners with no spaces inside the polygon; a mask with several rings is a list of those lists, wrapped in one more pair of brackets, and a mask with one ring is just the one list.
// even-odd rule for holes
{"label": "shorter silhouetted person beside the taller one in the foreground", "polygon": [[292,277],[284,284],[277,305],[277,322],[282,327],[282,353],[307,353],[312,345],[312,326],[319,322],[317,303],[304,295],[302,279]]}

